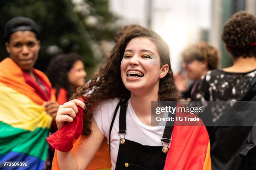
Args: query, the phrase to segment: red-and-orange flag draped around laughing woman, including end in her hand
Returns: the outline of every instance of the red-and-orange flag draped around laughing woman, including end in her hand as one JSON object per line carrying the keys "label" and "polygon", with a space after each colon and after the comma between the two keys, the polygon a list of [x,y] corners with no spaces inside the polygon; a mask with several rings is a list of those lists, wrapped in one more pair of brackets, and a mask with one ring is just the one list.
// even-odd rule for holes
{"label": "red-and-orange flag draped around laughing woman, including end in her hand", "polygon": [[[179,106],[180,105],[178,105],[178,107]],[[83,109],[79,107],[79,112],[81,110]],[[177,116],[197,117],[196,115],[184,113],[177,113]],[[79,117],[82,118],[82,114],[77,115],[73,122],[79,119]],[[69,127],[68,124],[65,125],[60,129],[62,130],[61,132],[59,132],[59,130],[57,131],[57,133],[59,132],[57,135],[54,136],[54,133],[49,137],[52,138],[53,142],[49,141],[49,138],[47,138],[47,141],[53,145],[54,148],[62,152],[71,150],[74,137],[78,138],[82,132],[82,129],[80,133],[77,132],[78,130],[76,134],[72,132],[77,128],[77,123],[78,122],[75,122],[73,123],[75,125],[70,125]],[[82,124],[79,125],[81,125],[82,128]],[[70,137],[70,134],[74,137]],[[56,152],[52,169],[59,170]],[[201,120],[199,122],[175,121],[172,142],[166,156],[164,170],[211,170],[209,137]]]}

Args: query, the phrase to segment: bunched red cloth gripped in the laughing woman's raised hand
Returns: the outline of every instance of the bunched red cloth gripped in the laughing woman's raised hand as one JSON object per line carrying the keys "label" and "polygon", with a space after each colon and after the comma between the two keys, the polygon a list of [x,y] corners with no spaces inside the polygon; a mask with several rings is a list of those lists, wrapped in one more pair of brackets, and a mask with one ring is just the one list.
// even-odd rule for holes
{"label": "bunched red cloth gripped in the laughing woman's raised hand", "polygon": [[80,106],[77,106],[77,108],[78,113],[73,122],[67,122],[67,124],[60,128],[57,132],[46,138],[48,143],[56,150],[68,152],[73,148],[73,140],[78,139],[81,135],[83,129],[84,109]]}

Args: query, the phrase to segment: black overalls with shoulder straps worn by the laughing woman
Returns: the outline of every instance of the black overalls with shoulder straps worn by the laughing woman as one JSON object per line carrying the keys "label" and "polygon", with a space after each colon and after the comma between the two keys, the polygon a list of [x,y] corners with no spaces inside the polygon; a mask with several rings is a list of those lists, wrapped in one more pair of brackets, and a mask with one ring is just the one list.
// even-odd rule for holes
{"label": "black overalls with shoulder straps worn by the laughing woman", "polygon": [[[120,100],[115,108],[115,113],[110,125],[109,146],[110,134],[119,106],[120,116],[118,133],[126,133],[126,109],[128,99],[129,98]],[[161,139],[162,143],[170,143],[172,130],[173,126],[165,126],[164,134]],[[163,153],[162,149],[163,147],[161,146],[141,145],[140,143],[125,139],[125,143],[123,143],[123,145],[119,144],[115,170],[163,170],[167,153]]]}

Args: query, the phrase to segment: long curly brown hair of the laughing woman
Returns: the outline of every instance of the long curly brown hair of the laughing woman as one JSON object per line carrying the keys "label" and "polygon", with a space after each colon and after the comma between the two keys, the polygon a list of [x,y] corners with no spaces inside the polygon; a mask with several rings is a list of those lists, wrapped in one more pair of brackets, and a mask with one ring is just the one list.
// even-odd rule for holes
{"label": "long curly brown hair of the laughing woman", "polygon": [[82,135],[90,135],[92,111],[99,102],[115,97],[130,97],[131,92],[125,88],[121,79],[120,65],[128,42],[136,37],[147,37],[154,42],[160,56],[160,65],[169,65],[167,75],[160,79],[158,92],[159,100],[175,101],[179,99],[171,70],[168,45],[152,30],[146,28],[133,28],[120,37],[120,40],[116,43],[110,57],[106,60],[105,64],[100,67],[100,70],[92,78],[90,83],[78,88],[77,92],[72,96],[72,98],[77,98],[89,91],[92,92],[90,95],[87,95],[87,98],[85,99],[87,112],[84,112]]}

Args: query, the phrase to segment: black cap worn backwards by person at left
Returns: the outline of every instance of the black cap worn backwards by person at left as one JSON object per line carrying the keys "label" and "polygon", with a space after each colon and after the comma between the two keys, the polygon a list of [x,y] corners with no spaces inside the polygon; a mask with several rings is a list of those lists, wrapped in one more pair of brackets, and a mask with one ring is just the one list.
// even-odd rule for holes
{"label": "black cap worn backwards by person at left", "polygon": [[5,24],[5,32],[4,32],[4,38],[5,42],[7,41],[6,38],[11,35],[13,32],[16,31],[24,31],[29,30],[36,33],[36,35],[39,35],[39,29],[31,18],[27,17],[15,17],[11,20],[9,20]]}

